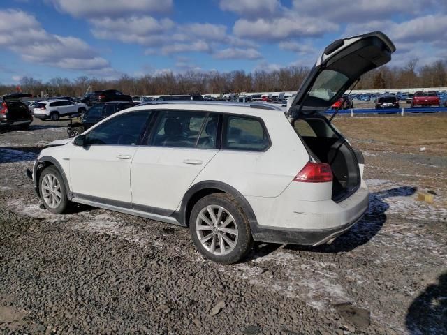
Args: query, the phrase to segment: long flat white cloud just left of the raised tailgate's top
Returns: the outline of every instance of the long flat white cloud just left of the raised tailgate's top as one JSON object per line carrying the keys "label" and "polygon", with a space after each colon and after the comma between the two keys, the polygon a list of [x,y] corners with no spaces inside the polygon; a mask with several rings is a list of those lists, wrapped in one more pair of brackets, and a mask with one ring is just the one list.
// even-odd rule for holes
{"label": "long flat white cloud just left of the raised tailgate's top", "polygon": [[233,32],[236,36],[257,40],[284,40],[291,37],[322,36],[338,29],[337,24],[321,22],[312,18],[279,17],[272,20],[240,19],[235,22]]}

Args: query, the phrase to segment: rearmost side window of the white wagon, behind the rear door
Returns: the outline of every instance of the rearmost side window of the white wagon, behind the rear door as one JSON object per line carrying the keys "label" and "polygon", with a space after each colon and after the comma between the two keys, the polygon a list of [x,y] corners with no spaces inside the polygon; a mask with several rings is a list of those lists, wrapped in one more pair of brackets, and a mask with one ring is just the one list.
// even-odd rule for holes
{"label": "rearmost side window of the white wagon, behind the rear door", "polygon": [[224,149],[263,151],[270,145],[259,119],[229,116],[223,140]]}

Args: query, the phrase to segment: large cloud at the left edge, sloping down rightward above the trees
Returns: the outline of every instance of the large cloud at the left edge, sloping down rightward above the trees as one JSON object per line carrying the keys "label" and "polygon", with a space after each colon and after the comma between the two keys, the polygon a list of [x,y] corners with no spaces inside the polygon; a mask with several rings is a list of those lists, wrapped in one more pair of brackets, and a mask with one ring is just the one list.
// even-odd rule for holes
{"label": "large cloud at the left edge, sloping down rightward above the trees", "polygon": [[110,66],[80,38],[50,34],[35,17],[22,10],[0,10],[0,46],[36,64],[72,70]]}

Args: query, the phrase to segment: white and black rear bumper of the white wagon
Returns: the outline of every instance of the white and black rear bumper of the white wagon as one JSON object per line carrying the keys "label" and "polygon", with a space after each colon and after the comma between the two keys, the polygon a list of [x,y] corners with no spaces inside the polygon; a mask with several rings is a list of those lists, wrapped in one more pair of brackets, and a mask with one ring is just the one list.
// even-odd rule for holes
{"label": "white and black rear bumper of the white wagon", "polygon": [[253,238],[255,241],[272,243],[310,246],[324,244],[349,230],[362,218],[369,206],[369,191],[363,184],[346,200],[339,203],[330,202],[332,200],[317,201],[313,204],[295,202],[296,209],[289,208],[286,211],[284,207],[279,208],[275,214],[277,220],[274,225],[251,224]]}

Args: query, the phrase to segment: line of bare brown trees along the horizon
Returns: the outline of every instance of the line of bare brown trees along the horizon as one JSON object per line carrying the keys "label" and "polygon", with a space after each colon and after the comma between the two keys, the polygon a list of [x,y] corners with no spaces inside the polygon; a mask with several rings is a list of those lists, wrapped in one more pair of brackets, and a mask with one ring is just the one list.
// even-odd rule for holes
{"label": "line of bare brown trees along the horizon", "polygon": [[[235,70],[228,73],[217,71],[186,71],[185,73],[158,73],[142,77],[122,75],[117,80],[77,77],[73,80],[56,77],[43,82],[33,77],[22,77],[20,89],[34,95],[83,96],[88,87],[94,91],[118,89],[131,95],[160,95],[171,93],[226,94],[240,92],[296,91],[309,68],[290,66],[279,70],[255,70],[246,73]],[[382,66],[362,76],[356,89],[395,89],[412,87],[447,87],[447,61],[418,66],[412,59],[405,66]],[[0,84],[0,93],[16,90],[15,85]]]}

